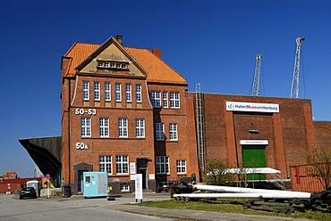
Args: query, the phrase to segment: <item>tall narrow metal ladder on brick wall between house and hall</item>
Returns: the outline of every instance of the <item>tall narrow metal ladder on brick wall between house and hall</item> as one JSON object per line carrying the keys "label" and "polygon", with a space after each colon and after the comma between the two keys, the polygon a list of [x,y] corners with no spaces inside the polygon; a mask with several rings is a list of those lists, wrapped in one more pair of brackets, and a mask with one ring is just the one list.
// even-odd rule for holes
{"label": "tall narrow metal ladder on brick wall between house and hall", "polygon": [[199,171],[205,171],[205,137],[204,137],[204,122],[203,122],[203,106],[201,85],[195,84],[195,116],[197,127],[197,144],[198,144],[198,157],[199,157]]}

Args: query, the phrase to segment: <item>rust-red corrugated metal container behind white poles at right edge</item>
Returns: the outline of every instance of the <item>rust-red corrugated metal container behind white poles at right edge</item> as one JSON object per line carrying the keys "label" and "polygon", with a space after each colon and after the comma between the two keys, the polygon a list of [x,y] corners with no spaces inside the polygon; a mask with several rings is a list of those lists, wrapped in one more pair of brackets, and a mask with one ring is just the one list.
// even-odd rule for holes
{"label": "rust-red corrugated metal container behind white poles at right edge", "polygon": [[309,176],[310,165],[291,166],[292,191],[322,192],[325,191],[320,178]]}

